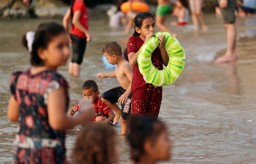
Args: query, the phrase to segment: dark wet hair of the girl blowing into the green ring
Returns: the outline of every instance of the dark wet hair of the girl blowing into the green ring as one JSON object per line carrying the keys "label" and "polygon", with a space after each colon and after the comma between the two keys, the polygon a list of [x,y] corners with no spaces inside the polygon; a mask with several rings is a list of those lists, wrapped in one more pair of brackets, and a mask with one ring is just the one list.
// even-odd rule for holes
{"label": "dark wet hair of the girl blowing into the green ring", "polygon": [[152,15],[149,12],[140,12],[139,14],[137,14],[134,18],[134,33],[133,36],[140,36],[139,33],[137,33],[137,31],[135,30],[135,27],[141,28],[142,25],[142,21],[147,19],[147,18],[153,18],[155,20],[156,15]]}

